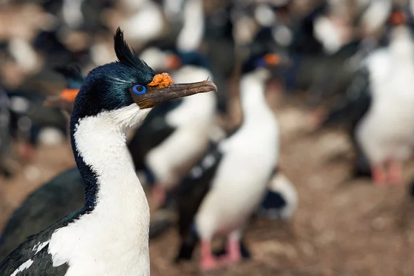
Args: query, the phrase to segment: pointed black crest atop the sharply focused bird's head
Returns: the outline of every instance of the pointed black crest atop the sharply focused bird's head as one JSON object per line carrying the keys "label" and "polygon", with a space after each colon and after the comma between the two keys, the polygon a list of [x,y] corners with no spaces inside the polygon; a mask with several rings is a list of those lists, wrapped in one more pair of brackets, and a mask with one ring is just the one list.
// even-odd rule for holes
{"label": "pointed black crest atop the sharply focused bird's head", "polygon": [[117,32],[114,36],[115,54],[117,55],[118,61],[123,63],[129,68],[140,68],[141,70],[147,69],[154,73],[155,72],[147,65],[145,61],[140,59],[135,50],[130,50],[128,43],[124,40],[124,31],[121,28],[117,28]]}

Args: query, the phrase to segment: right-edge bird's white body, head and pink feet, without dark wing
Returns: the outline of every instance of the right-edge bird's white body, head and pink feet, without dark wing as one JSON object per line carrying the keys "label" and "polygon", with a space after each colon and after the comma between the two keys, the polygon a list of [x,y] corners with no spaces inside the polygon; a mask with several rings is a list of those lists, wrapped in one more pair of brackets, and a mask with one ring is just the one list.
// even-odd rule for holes
{"label": "right-edge bird's white body, head and pink feet, without dark wing", "polygon": [[[414,121],[414,40],[410,8],[391,14],[390,42],[367,58],[371,106],[356,126],[356,139],[376,184],[401,184],[402,162],[411,156]],[[391,92],[392,91],[392,92]],[[387,126],[384,128],[384,126]]]}

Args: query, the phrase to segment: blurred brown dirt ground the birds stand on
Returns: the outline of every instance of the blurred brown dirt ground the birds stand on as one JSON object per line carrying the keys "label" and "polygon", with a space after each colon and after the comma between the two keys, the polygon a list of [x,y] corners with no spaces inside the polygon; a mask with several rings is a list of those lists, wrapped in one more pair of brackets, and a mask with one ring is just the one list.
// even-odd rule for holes
{"label": "blurred brown dirt ground the birds stand on", "polygon": [[[344,133],[308,134],[298,108],[282,106],[277,115],[280,167],[299,193],[290,225],[254,221],[246,233],[253,259],[209,273],[199,272],[198,251],[193,262],[172,264],[178,239],[171,229],[150,241],[151,275],[413,275],[414,200],[406,187],[349,180],[352,150]],[[73,165],[68,144],[39,148],[17,177],[0,184],[0,228],[31,190]]]}

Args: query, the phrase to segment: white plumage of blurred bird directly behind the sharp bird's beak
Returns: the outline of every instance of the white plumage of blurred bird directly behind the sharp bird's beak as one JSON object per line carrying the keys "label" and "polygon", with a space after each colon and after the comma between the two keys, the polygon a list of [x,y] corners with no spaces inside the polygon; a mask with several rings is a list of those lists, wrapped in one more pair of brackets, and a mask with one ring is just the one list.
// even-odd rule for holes
{"label": "white plumage of blurred bird directly behind the sharp bird's beak", "polygon": [[[195,66],[184,66],[172,74],[178,83],[210,76],[208,70]],[[147,166],[164,188],[174,187],[206,150],[210,132],[215,130],[216,102],[214,93],[193,95],[168,113],[166,121],[177,130],[146,156]]]}

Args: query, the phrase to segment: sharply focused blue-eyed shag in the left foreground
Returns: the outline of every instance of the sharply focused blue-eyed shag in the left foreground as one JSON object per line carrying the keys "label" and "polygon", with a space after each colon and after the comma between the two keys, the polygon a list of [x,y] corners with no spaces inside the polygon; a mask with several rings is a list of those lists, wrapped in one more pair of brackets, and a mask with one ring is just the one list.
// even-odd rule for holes
{"label": "sharply focused blue-eyed shag in the left foreground", "polygon": [[150,214],[126,147],[126,131],[152,107],[216,90],[210,81],[172,84],[115,34],[118,61],[86,77],[72,111],[70,137],[84,181],[81,210],[32,235],[0,264],[0,275],[150,275]]}

